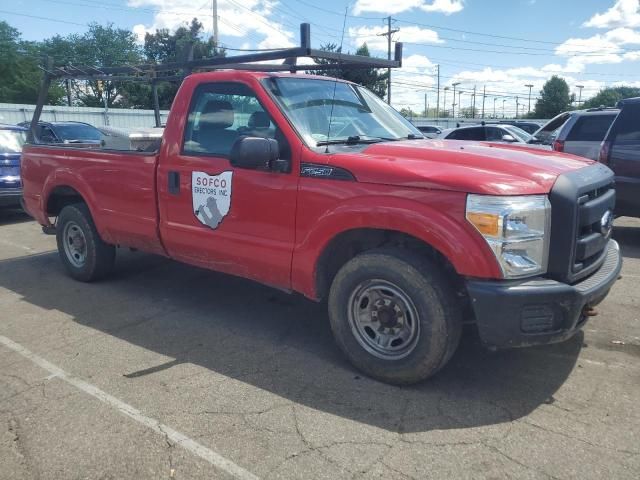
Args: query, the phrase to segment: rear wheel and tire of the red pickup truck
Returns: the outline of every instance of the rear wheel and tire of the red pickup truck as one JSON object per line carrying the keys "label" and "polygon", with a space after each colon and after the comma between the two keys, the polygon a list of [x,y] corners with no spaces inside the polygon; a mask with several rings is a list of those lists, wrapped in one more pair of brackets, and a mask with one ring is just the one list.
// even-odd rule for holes
{"label": "rear wheel and tire of the red pickup truck", "polygon": [[62,264],[76,280],[92,282],[113,269],[116,249],[102,241],[86,204],[76,203],[62,209],[56,240]]}

